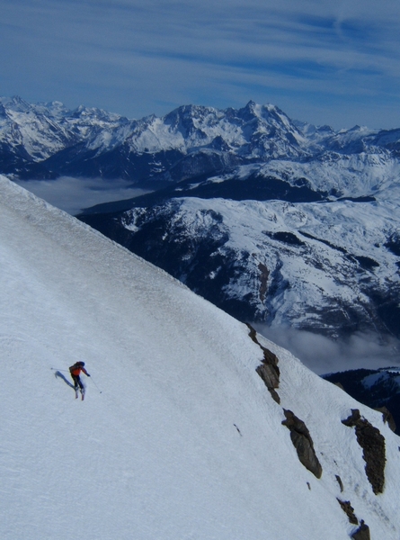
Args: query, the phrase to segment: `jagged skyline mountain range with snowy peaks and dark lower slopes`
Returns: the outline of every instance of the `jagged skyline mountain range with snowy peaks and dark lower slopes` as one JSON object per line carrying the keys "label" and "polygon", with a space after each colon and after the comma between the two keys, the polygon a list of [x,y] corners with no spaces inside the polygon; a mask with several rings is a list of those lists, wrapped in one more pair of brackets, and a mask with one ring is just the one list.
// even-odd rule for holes
{"label": "jagged skyline mountain range with snowy peaks and dark lower slopes", "polygon": [[385,161],[397,158],[399,139],[399,130],[312,126],[253,102],[226,110],[185,105],[162,118],[129,120],[84,106],[70,111],[59,102],[0,98],[1,171],[15,178],[71,174],[139,183],[271,159],[324,162],[365,154]]}

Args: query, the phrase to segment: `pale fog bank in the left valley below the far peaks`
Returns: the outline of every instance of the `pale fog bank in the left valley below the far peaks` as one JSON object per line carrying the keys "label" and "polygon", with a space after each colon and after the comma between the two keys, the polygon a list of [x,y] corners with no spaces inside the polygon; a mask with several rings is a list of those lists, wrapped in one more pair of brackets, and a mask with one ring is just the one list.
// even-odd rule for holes
{"label": "pale fog bank in the left valley below the far peaks", "polygon": [[122,179],[60,176],[57,180],[16,180],[15,184],[73,216],[95,204],[132,199],[148,193],[129,187],[131,182]]}

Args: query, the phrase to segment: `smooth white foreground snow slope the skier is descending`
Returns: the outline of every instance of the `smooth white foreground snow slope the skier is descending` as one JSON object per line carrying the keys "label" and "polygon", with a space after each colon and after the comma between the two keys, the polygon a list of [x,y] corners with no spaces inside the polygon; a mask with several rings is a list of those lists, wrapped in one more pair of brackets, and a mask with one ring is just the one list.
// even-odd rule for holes
{"label": "smooth white foreground snow slope the skier is descending", "polygon": [[[0,538],[346,540],[358,526],[339,498],[373,540],[399,540],[400,439],[380,413],[259,337],[280,359],[273,401],[245,325],[4,176],[0,301]],[[351,409],[386,439],[378,496]]]}

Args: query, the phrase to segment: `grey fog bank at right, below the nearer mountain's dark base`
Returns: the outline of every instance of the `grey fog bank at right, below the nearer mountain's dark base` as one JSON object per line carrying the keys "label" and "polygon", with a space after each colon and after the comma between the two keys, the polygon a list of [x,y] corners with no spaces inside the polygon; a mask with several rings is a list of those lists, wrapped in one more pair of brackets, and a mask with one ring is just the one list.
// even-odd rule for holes
{"label": "grey fog bank at right, below the nearer mountain's dark base", "polygon": [[400,342],[390,336],[356,333],[350,338],[333,340],[297,329],[271,329],[262,324],[253,327],[319,375],[400,365]]}

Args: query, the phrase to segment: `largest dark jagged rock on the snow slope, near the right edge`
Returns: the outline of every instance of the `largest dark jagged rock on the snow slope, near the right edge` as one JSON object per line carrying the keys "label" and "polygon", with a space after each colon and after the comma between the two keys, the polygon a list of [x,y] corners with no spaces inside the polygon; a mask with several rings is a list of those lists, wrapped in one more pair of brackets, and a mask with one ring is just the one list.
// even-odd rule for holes
{"label": "largest dark jagged rock on the snow slope, near the right edge", "polygon": [[366,463],[365,473],[375,495],[382,493],[385,486],[386,450],[385,437],[368,420],[361,418],[360,410],[351,409],[351,416],[342,420],[342,424],[355,428],[357,442],[363,450]]}

